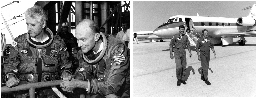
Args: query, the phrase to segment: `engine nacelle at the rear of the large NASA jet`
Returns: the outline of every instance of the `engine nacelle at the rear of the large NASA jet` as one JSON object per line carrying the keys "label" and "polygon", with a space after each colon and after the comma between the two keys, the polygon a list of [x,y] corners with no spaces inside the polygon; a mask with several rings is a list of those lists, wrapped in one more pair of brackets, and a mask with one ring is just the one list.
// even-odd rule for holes
{"label": "engine nacelle at the rear of the large NASA jet", "polygon": [[243,26],[253,26],[256,25],[256,20],[250,17],[240,17],[237,19],[237,23]]}

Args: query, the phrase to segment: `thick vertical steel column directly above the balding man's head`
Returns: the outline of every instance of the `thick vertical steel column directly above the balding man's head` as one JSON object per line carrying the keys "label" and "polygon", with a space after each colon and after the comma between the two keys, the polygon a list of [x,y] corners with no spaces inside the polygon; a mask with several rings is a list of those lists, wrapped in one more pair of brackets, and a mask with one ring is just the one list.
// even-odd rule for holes
{"label": "thick vertical steel column directly above the balding man's head", "polygon": [[82,1],[75,2],[75,23],[76,26],[78,22],[84,19],[84,3]]}

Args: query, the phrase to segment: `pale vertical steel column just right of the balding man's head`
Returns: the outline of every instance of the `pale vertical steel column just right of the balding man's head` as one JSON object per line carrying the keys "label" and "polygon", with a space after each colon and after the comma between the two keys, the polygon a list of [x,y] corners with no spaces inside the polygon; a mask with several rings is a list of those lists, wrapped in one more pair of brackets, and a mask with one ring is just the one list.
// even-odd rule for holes
{"label": "pale vertical steel column just right of the balding man's head", "polygon": [[[107,20],[107,17],[109,15],[109,10],[110,8],[109,8],[108,1],[103,1],[101,3],[101,24],[104,24],[104,22]],[[105,35],[110,34],[109,24],[106,23],[103,27],[106,29]]]}

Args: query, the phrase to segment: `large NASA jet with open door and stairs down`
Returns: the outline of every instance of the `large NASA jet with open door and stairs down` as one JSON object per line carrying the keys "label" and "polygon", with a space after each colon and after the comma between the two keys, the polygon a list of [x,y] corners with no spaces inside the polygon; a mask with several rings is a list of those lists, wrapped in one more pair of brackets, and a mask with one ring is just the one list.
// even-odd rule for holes
{"label": "large NASA jet with open door and stairs down", "polygon": [[208,37],[212,39],[213,44],[232,44],[233,37],[241,36],[238,43],[244,45],[245,36],[256,35],[255,31],[245,32],[256,26],[256,4],[242,10],[249,8],[251,8],[249,15],[239,18],[201,17],[198,14],[197,16],[173,16],[166,23],[156,28],[153,34],[163,38],[172,38],[173,35],[178,33],[179,26],[184,25],[190,43],[195,46],[197,39],[202,36],[201,31],[203,29],[208,30]]}

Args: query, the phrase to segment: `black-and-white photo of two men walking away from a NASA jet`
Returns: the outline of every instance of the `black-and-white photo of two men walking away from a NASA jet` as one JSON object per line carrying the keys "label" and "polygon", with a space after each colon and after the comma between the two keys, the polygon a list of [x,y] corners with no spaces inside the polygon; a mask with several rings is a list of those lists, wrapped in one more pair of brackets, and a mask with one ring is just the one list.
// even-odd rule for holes
{"label": "black-and-white photo of two men walking away from a NASA jet", "polygon": [[256,97],[255,1],[134,1],[134,97]]}

